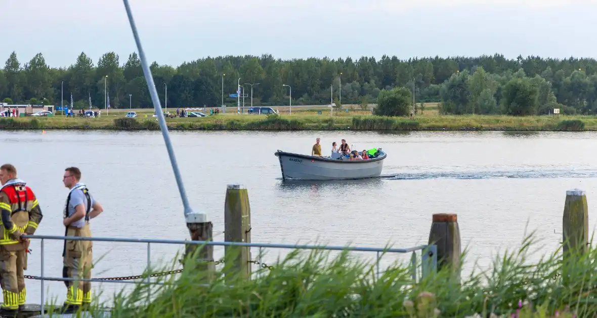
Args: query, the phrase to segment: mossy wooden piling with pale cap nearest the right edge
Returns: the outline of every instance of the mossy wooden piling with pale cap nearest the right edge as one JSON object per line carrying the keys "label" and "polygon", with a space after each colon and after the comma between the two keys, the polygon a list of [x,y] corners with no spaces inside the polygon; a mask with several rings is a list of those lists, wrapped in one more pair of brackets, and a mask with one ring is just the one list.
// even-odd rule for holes
{"label": "mossy wooden piling with pale cap nearest the right edge", "polygon": [[566,191],[562,239],[564,255],[582,254],[589,248],[589,208],[582,190]]}

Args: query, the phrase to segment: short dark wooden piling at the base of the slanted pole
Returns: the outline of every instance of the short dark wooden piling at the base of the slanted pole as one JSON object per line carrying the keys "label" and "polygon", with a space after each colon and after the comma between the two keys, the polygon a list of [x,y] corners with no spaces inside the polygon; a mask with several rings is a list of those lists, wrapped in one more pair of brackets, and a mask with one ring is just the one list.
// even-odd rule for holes
{"label": "short dark wooden piling at the base of the slanted pole", "polygon": [[[207,214],[189,213],[186,216],[187,228],[192,241],[212,241],[213,224],[207,221]],[[205,273],[205,279],[211,280],[214,276],[216,264],[214,263],[213,245],[186,245],[184,259],[195,254],[195,270]],[[186,262],[185,262],[186,263]]]}

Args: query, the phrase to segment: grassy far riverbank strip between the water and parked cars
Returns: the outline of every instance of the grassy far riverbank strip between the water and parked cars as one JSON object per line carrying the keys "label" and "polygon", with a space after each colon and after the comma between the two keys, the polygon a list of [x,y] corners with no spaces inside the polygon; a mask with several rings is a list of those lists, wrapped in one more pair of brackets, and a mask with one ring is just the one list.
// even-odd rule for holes
{"label": "grassy far riverbank strip between the water and parked cars", "polygon": [[[339,112],[338,112],[339,113]],[[143,116],[143,115],[141,115]],[[0,119],[0,129],[159,129],[155,117],[125,119],[123,115],[99,119],[19,117]],[[597,131],[593,116],[372,116],[353,111],[338,116],[303,111],[292,115],[263,116],[220,114],[212,117],[167,119],[170,129],[181,130],[574,130]]]}

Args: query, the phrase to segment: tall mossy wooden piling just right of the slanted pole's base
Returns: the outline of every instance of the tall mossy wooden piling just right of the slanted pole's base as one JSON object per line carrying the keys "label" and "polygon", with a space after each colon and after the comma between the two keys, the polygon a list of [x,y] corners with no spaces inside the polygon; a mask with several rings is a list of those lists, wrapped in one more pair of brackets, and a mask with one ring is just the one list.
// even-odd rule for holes
{"label": "tall mossy wooden piling just right of the slanted pole's base", "polygon": [[[251,242],[251,208],[247,188],[242,185],[228,185],[224,203],[224,241]],[[239,275],[242,279],[251,278],[251,248],[229,247],[226,254],[226,277]]]}

